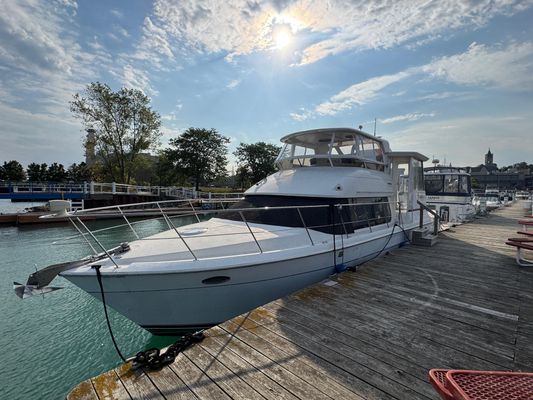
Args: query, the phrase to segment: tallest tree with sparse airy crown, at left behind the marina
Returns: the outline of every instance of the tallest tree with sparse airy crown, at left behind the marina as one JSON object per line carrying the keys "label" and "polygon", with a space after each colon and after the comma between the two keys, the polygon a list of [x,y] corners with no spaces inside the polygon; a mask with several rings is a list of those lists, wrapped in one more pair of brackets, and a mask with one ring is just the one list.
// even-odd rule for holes
{"label": "tallest tree with sparse airy crown, at left behind the marina", "polygon": [[[96,157],[114,182],[130,183],[139,154],[159,144],[161,120],[140,90],[122,88],[113,92],[99,82],[83,95],[77,93],[70,110],[90,130],[84,146],[94,146]],[[89,143],[90,142],[90,143]]]}

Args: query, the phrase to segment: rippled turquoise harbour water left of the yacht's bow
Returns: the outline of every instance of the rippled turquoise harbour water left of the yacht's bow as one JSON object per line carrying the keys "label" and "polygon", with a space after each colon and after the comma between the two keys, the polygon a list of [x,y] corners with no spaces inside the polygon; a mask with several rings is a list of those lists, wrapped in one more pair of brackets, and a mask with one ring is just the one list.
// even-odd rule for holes
{"label": "rippled turquoise harbour water left of the yacht's bow", "polygon": [[[14,212],[36,203],[0,200],[0,212]],[[103,227],[107,222],[100,222]],[[146,223],[145,233],[160,229]],[[7,227],[0,225],[0,399],[64,399],[79,382],[120,363],[109,337],[102,303],[61,277],[64,289],[21,300],[13,281],[46,265],[89,254],[80,240],[60,240],[76,232],[68,225]],[[132,240],[131,232],[108,231],[106,246]],[[52,242],[57,241],[57,244]],[[176,338],[156,337],[109,309],[118,345],[126,356],[163,347]]]}

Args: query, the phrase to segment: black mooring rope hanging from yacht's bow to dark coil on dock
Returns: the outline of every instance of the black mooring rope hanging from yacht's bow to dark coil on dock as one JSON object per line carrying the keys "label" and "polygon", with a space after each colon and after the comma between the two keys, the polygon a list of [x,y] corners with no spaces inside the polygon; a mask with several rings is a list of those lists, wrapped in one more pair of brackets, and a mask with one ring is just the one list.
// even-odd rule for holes
{"label": "black mooring rope hanging from yacht's bow to dark coil on dock", "polygon": [[133,361],[133,366],[135,368],[146,366],[151,370],[161,369],[165,365],[172,364],[178,354],[185,350],[187,347],[193,345],[194,343],[199,343],[204,339],[205,336],[203,331],[188,333],[184,336],[181,336],[178,340],[171,344],[164,353],[161,353],[161,350],[159,350],[158,348],[152,348],[145,351],[140,351],[135,355],[135,357],[130,357],[126,359],[122,355],[122,352],[120,351],[118,344],[115,340],[113,330],[111,329],[111,322],[109,321],[107,305],[105,302],[104,285],[102,284],[102,273],[100,272],[101,267],[101,265],[92,266],[92,268],[96,270],[96,278],[98,280],[98,285],[100,286],[100,294],[102,295],[102,304],[104,305],[104,313],[107,322],[107,328],[109,330],[109,335],[111,336],[111,340],[113,341],[113,345],[115,346],[115,350],[117,351],[118,356],[123,362],[127,363]]}

